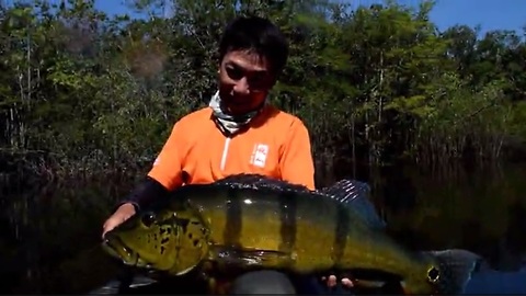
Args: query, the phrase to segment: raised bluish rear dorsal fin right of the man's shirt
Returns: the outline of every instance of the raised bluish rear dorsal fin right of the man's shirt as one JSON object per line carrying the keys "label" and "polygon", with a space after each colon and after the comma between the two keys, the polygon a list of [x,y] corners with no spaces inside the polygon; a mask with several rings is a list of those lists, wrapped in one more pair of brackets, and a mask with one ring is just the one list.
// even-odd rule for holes
{"label": "raised bluish rear dorsal fin right of the man's shirt", "polygon": [[369,227],[384,229],[387,226],[369,200],[370,187],[367,183],[344,179],[320,192],[356,210]]}

